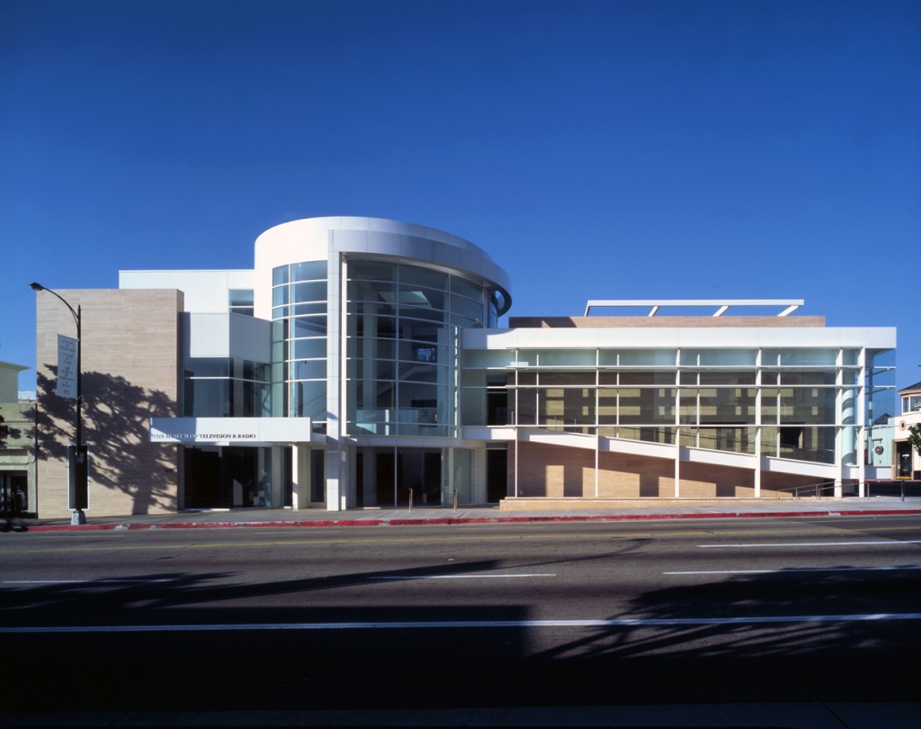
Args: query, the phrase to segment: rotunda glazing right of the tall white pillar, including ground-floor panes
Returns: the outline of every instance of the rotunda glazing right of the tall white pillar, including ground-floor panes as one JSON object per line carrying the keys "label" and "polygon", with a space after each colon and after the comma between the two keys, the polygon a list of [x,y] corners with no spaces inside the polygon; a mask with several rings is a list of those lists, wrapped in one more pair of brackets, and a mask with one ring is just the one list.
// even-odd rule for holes
{"label": "rotunda glazing right of the tall white pillar, including ground-floor panes", "polygon": [[[458,330],[496,321],[502,301],[461,276],[420,265],[346,264],[346,423],[351,436],[455,438]],[[456,448],[362,447],[360,506],[472,500],[472,453]]]}

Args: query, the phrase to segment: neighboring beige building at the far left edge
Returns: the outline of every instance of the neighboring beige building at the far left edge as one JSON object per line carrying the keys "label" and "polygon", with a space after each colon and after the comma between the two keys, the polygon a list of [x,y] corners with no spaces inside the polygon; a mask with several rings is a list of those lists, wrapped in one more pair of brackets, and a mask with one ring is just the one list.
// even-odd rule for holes
{"label": "neighboring beige building at the far left edge", "polygon": [[19,372],[28,367],[0,362],[0,511],[34,514],[35,403],[20,400]]}

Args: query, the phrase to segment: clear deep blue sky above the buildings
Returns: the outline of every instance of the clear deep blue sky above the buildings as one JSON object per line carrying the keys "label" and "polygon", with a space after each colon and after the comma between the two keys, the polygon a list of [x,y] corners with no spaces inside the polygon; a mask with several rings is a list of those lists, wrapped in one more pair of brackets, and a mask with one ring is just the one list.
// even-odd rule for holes
{"label": "clear deep blue sky above the buildings", "polygon": [[921,380],[916,0],[0,0],[0,359],[35,294],[250,268],[295,218],[467,238],[513,315],[805,299]]}

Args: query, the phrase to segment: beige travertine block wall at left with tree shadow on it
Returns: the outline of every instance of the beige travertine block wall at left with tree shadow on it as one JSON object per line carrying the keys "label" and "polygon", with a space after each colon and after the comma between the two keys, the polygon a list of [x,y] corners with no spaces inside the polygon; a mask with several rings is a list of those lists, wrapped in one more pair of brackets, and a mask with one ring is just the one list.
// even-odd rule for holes
{"label": "beige travertine block wall at left with tree shadow on it", "polygon": [[[176,511],[177,446],[150,443],[150,417],[179,415],[182,292],[175,289],[60,289],[82,307],[83,429],[89,452],[87,519]],[[54,394],[57,335],[76,336],[74,318],[48,292],[36,295],[38,512],[67,517],[66,445],[75,403]]]}

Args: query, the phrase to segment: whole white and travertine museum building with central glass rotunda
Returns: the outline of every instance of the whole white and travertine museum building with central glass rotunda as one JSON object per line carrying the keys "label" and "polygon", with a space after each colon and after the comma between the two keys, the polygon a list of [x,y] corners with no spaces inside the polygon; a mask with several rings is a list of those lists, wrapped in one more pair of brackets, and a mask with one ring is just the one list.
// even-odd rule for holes
{"label": "whole white and travertine museum building with central glass rotunda", "polygon": [[[871,447],[891,328],[826,327],[800,300],[596,300],[497,328],[510,291],[448,233],[311,218],[263,233],[252,270],[62,292],[85,320],[89,513],[758,498],[892,475]],[[667,315],[688,305],[705,315]],[[612,306],[645,315],[591,315]],[[40,298],[52,456],[60,309]],[[94,407],[103,393],[122,409]],[[114,448],[109,411],[145,428]],[[63,464],[40,484],[59,488]]]}

